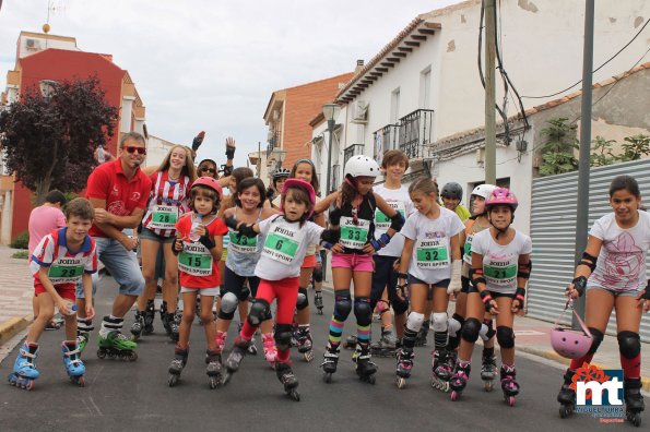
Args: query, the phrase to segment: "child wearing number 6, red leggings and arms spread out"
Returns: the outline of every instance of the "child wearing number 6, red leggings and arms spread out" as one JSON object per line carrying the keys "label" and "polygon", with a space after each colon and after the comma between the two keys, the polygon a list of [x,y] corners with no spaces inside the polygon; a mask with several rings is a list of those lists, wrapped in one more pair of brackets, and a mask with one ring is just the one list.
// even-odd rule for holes
{"label": "child wearing number 6, red leggings and arms spread out", "polygon": [[284,385],[284,391],[295,400],[299,400],[300,396],[296,391],[298,380],[292,371],[289,353],[300,264],[309,244],[322,240],[327,243],[324,245],[329,247],[339,240],[338,230],[326,230],[308,220],[315,203],[316,194],[311,184],[298,179],[287,179],[282,190],[282,215],[270,217],[259,224],[244,224],[235,217],[226,220],[229,228],[244,236],[264,236],[262,254],[255,269],[256,276],[260,278],[260,286],[246,323],[226,361],[227,380],[239,369],[258,326],[271,319],[271,303],[277,299],[275,373]]}

